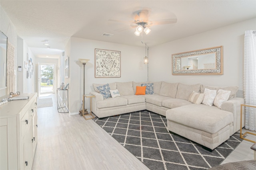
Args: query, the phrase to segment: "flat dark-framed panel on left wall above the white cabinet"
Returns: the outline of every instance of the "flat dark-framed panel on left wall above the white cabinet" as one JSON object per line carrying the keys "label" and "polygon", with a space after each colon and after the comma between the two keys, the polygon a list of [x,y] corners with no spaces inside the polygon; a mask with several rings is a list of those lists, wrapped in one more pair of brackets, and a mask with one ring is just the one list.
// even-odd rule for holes
{"label": "flat dark-framed panel on left wall above the white cabinet", "polygon": [[6,88],[7,41],[7,36],[2,31],[0,31],[0,89]]}

